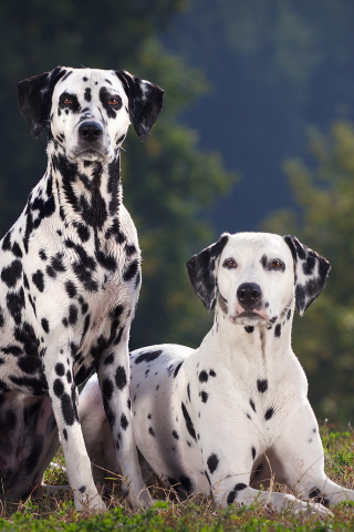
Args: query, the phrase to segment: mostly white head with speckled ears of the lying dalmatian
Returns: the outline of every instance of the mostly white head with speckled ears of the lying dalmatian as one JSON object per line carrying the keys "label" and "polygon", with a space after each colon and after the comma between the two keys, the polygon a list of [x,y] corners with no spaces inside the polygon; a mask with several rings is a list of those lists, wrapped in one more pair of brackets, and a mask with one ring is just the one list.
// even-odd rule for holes
{"label": "mostly white head with speckled ears of the lying dalmatian", "polygon": [[187,263],[191,286],[210,311],[218,298],[230,321],[273,324],[295,293],[302,316],[322,291],[330,263],[294,236],[225,233]]}

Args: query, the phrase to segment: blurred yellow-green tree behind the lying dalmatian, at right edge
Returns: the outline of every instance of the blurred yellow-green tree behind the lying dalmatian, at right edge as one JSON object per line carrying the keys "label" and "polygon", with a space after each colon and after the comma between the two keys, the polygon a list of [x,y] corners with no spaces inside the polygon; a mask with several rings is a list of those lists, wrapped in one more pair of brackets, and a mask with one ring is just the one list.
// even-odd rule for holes
{"label": "blurred yellow-green tree behind the lying dalmatian, at right edge", "polygon": [[293,347],[310,381],[316,413],[354,421],[354,125],[311,133],[315,165],[290,161],[285,171],[301,213],[275,213],[266,229],[292,233],[332,264],[324,291],[294,320]]}

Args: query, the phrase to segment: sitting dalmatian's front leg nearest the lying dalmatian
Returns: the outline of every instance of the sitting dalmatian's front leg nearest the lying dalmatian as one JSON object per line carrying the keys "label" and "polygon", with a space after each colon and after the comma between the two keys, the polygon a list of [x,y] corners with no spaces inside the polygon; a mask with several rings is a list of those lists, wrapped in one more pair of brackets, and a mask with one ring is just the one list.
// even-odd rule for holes
{"label": "sitting dalmatian's front leg nearest the lying dalmatian", "polygon": [[105,413],[116,449],[118,469],[134,507],[154,501],[144,485],[138,463],[129,401],[128,332],[125,327],[118,345],[101,357],[97,368]]}

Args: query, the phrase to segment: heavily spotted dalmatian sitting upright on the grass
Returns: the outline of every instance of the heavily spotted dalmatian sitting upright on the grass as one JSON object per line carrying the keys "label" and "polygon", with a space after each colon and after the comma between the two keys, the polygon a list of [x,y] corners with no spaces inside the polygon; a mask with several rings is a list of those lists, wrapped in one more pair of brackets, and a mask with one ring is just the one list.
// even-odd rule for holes
{"label": "heavily spotted dalmatian sitting upright on the grass", "polygon": [[60,66],[18,90],[32,134],[50,131],[46,172],[0,243],[2,497],[41,485],[60,436],[76,509],[105,508],[77,416],[76,388],[96,370],[131,501],[144,504],[127,386],[140,252],[119,153],[131,122],[146,140],[164,91],[124,70]]}

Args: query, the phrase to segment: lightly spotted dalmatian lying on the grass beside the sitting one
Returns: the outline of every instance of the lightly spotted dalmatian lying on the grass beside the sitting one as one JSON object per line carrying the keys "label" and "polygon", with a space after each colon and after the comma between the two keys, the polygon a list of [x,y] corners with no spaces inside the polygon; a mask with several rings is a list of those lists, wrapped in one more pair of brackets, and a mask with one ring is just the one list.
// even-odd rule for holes
{"label": "lightly spotted dalmatian lying on the grass beside the sitting one", "polygon": [[[295,300],[303,315],[324,287],[329,262],[294,236],[239,233],[223,234],[187,269],[207,310],[216,309],[215,323],[196,350],[160,345],[131,355],[145,466],[187,494],[211,491],[222,507],[257,500],[324,515],[323,504],[354,500],[324,473],[306,378],[291,349]],[[88,456],[114,471],[95,376],[79,412]],[[260,491],[271,479],[295,497]]]}

